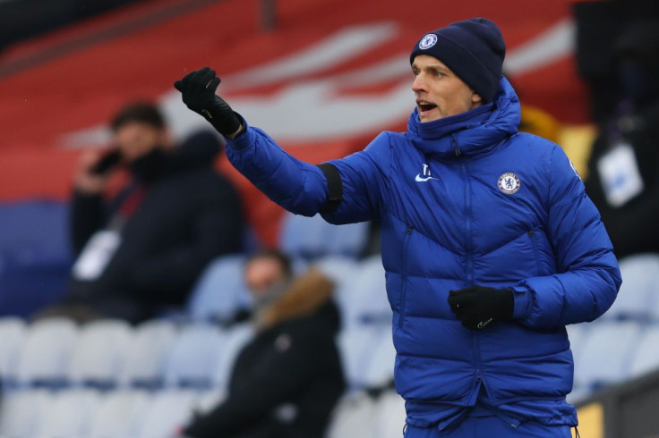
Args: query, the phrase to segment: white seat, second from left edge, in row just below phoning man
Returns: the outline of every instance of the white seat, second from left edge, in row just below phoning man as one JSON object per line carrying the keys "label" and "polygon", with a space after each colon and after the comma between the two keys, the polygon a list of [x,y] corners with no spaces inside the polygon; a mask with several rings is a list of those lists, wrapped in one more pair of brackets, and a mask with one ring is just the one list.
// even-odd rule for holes
{"label": "white seat, second from left edge, in row just below phoning man", "polygon": [[65,318],[48,318],[31,324],[18,361],[21,383],[60,385],[78,340],[78,329]]}

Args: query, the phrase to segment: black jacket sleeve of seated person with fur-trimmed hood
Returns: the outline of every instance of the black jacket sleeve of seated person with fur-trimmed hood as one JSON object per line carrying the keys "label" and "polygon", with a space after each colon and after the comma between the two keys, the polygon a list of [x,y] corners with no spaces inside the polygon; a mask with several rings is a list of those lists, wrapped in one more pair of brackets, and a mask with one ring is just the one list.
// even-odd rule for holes
{"label": "black jacket sleeve of seated person with fur-trimmed hood", "polygon": [[[197,417],[184,434],[193,438],[225,438],[257,425],[273,409],[290,400],[317,372],[318,336],[313,330],[289,333],[287,351],[274,351],[258,371],[232,387],[227,400],[210,413]],[[282,334],[283,336],[283,334]]]}

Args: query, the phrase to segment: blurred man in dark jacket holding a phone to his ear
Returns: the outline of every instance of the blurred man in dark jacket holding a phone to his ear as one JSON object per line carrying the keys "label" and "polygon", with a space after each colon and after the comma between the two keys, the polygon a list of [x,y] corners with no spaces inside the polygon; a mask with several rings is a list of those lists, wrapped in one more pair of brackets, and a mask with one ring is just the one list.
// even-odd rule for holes
{"label": "blurred man in dark jacket holding a phone to his ear", "polygon": [[[240,252],[240,199],[213,169],[221,147],[200,131],[175,146],[150,103],[125,106],[111,122],[114,147],[83,154],[73,180],[71,235],[78,254],[69,291],[38,317],[139,322],[184,305],[210,260]],[[110,177],[130,182],[107,199]]]}

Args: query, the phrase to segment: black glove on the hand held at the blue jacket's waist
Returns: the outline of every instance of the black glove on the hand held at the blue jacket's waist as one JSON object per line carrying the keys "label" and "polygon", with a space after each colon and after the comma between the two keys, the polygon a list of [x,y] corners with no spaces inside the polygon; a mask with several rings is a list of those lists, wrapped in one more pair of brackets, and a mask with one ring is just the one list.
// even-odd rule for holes
{"label": "black glove on the hand held at the blue jacket's waist", "polygon": [[469,286],[459,291],[449,291],[451,311],[466,328],[483,330],[496,321],[512,318],[515,300],[512,289],[494,289]]}

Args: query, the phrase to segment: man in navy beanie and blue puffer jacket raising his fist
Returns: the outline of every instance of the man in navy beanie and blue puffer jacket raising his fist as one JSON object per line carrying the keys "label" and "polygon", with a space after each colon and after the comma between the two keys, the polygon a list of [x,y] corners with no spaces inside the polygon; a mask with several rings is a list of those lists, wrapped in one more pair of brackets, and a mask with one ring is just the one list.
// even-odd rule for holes
{"label": "man in navy beanie and blue puffer jacket raising his fist", "polygon": [[381,221],[408,437],[569,436],[565,325],[601,316],[620,287],[561,147],[518,133],[504,55],[486,19],[424,35],[410,56],[408,131],[320,166],[233,113],[210,69],[175,83],[229,139],[235,167],[281,206],[330,223]]}

